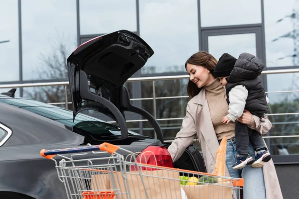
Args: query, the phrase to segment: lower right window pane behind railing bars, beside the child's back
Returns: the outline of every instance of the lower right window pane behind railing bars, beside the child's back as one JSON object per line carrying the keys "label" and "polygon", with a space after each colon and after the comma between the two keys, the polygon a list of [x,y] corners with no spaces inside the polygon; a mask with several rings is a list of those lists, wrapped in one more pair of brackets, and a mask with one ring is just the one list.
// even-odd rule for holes
{"label": "lower right window pane behind railing bars, beside the child's back", "polygon": [[[277,84],[277,82],[284,84]],[[267,75],[269,92],[298,91],[299,73]],[[298,113],[299,92],[268,93],[269,113]],[[272,122],[270,136],[299,135],[299,114],[269,115]],[[299,154],[299,137],[271,138],[274,155]]]}

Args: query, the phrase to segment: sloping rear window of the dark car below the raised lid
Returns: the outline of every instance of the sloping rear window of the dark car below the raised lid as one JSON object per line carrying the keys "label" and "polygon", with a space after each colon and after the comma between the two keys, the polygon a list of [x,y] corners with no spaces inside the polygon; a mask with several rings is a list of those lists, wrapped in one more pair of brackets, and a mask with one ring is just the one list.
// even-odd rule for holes
{"label": "sloping rear window of the dark car below the raised lid", "polygon": [[[47,103],[28,99],[0,99],[0,102],[7,103],[38,115],[55,120],[75,130],[81,130],[94,135],[110,136],[121,135],[120,128],[103,120],[79,113],[73,120],[73,112]],[[129,134],[139,135],[134,132]],[[0,134],[1,136],[1,134]]]}

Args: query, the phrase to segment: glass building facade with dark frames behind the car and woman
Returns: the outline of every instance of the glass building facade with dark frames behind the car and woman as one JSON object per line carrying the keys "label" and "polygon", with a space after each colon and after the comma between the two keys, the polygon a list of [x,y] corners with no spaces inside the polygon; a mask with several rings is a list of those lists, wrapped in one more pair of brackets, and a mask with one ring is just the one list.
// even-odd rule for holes
{"label": "glass building facade with dark frames behind the car and woman", "polygon": [[[199,50],[217,60],[224,52],[235,57],[249,52],[264,60],[267,71],[299,69],[298,0],[0,0],[0,18],[0,84],[66,81],[65,59],[78,45],[121,29],[140,35],[154,51],[134,77],[186,75],[185,61]],[[298,91],[299,74],[262,75],[262,80],[273,122],[267,136],[276,136],[265,140],[277,164],[298,163],[298,92],[273,92]],[[156,97],[186,96],[187,81],[156,81]],[[126,86],[133,99],[152,97],[151,82]],[[41,92],[63,89],[23,88],[16,96],[55,102]],[[156,101],[157,118],[176,118],[159,121],[166,138],[179,130],[188,100]],[[153,114],[152,100],[134,104]],[[147,122],[129,126],[153,135]],[[293,137],[280,137],[286,135]]]}

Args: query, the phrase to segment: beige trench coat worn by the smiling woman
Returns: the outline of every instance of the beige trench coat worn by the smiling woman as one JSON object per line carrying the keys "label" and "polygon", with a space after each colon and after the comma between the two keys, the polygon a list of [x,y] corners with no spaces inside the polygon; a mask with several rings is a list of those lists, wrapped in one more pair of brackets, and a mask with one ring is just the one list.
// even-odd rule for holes
{"label": "beige trench coat worn by the smiling woman", "polygon": [[[266,134],[272,127],[268,119],[260,121],[260,119],[254,115],[254,120],[256,127],[253,129],[262,134]],[[186,116],[183,119],[181,129],[176,134],[172,144],[168,147],[173,161],[177,160],[183,154],[184,150],[193,142],[196,133],[201,145],[207,172],[214,173],[215,155],[219,147],[219,142],[212,124],[204,89],[188,102]],[[263,172],[266,198],[283,199],[272,160],[265,164]],[[230,176],[227,167],[225,176]]]}

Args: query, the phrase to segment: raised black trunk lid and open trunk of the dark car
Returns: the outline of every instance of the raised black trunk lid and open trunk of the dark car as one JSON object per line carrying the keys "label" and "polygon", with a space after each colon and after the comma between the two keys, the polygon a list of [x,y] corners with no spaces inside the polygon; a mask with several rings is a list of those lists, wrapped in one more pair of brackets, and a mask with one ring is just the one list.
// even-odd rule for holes
{"label": "raised black trunk lid and open trunk of the dark car", "polygon": [[[125,140],[128,138],[128,128],[124,111],[135,112],[149,120],[157,139],[163,144],[158,122],[149,112],[131,103],[128,90],[124,87],[125,82],[152,55],[150,46],[127,30],[102,35],[80,45],[67,59],[73,117],[85,109],[102,112],[118,122],[120,140]],[[174,165],[181,169],[205,171],[200,153],[192,146]]]}

